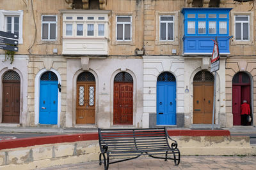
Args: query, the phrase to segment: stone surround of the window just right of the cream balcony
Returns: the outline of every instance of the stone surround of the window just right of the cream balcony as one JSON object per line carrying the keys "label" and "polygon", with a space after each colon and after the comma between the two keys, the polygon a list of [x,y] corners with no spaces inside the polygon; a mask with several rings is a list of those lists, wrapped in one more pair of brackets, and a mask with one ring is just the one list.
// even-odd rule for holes
{"label": "stone surround of the window just right of the cream balcony", "polygon": [[[132,25],[131,25],[131,41],[120,41],[120,40],[116,40],[116,18],[117,16],[131,16],[132,18]],[[135,37],[136,37],[136,32],[135,32],[135,19],[136,17],[136,11],[133,12],[113,12],[112,15],[112,45],[135,45]]]}

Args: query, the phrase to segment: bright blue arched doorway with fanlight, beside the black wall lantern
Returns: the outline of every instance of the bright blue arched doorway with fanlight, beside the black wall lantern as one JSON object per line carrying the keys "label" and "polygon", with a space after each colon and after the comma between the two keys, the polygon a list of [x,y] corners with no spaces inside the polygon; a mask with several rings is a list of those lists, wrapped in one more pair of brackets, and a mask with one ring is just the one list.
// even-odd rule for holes
{"label": "bright blue arched doorway with fanlight, beside the black wall lantern", "polygon": [[39,124],[58,123],[58,77],[47,71],[40,78]]}

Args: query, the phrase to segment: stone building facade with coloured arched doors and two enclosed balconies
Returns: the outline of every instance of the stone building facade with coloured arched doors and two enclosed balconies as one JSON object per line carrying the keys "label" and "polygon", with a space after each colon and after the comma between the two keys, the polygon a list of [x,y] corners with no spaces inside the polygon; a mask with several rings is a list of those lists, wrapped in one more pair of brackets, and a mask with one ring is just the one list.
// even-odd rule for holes
{"label": "stone building facade with coloured arched doors and two enclosed balconies", "polygon": [[232,127],[244,99],[255,125],[254,13],[232,0],[3,0],[0,31],[19,34],[19,52],[0,65],[0,125],[201,128],[215,102],[216,127]]}

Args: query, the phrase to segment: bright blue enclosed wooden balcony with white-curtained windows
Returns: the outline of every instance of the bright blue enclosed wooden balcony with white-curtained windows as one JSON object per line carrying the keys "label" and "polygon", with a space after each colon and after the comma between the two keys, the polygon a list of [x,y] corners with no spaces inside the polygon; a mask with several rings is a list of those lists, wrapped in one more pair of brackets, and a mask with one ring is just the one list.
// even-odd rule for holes
{"label": "bright blue enclosed wooden balcony with white-curtained windows", "polygon": [[232,8],[183,8],[184,55],[211,55],[218,38],[220,54],[229,51],[229,11]]}

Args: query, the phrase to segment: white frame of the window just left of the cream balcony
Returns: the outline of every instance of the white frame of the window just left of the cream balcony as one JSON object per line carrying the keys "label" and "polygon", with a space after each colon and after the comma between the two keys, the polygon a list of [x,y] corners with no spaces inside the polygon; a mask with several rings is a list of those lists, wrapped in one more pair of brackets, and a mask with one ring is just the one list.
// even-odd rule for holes
{"label": "white frame of the window just left of the cream balcony", "polygon": [[[43,21],[43,17],[55,17],[56,21]],[[43,39],[43,24],[48,24],[48,38]],[[50,24],[55,24],[55,39],[50,39],[50,31],[51,27]],[[58,16],[57,15],[42,15],[41,16],[41,41],[57,41],[58,36]]]}

